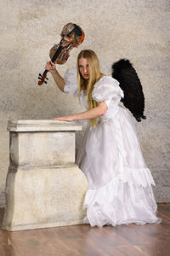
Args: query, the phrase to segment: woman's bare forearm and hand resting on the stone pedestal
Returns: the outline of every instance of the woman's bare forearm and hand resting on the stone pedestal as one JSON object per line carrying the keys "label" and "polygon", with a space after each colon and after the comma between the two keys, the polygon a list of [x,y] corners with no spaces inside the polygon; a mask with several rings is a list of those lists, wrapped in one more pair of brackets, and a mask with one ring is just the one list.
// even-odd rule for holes
{"label": "woman's bare forearm and hand resting on the stone pedestal", "polygon": [[74,113],[68,116],[54,118],[54,120],[74,121],[74,120],[82,120],[82,119],[94,119],[96,117],[104,115],[106,110],[107,110],[107,105],[105,104],[105,102],[99,102],[99,106],[96,108],[92,108],[82,113]]}

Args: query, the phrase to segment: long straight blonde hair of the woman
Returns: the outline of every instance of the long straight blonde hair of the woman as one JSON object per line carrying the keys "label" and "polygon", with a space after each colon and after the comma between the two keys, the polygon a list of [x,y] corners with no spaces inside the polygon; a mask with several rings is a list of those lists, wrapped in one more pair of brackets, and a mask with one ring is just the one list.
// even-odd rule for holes
{"label": "long straight blonde hair of the woman", "polygon": [[[88,71],[89,79],[83,79],[81,73],[79,72],[79,60],[84,58],[88,60]],[[77,56],[77,77],[78,77],[78,96],[80,96],[82,90],[88,89],[88,109],[96,108],[98,102],[92,99],[92,91],[94,89],[94,84],[103,76],[100,72],[99,60],[97,55],[92,49],[83,49]],[[90,119],[90,125],[95,127],[98,123],[98,118]]]}

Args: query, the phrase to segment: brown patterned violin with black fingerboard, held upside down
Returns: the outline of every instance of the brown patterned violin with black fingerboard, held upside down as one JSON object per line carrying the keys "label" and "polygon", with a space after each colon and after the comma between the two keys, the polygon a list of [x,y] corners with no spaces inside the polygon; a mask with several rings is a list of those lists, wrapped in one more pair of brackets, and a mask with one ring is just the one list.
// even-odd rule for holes
{"label": "brown patterned violin with black fingerboard, held upside down", "polygon": [[[82,44],[85,35],[80,26],[74,23],[67,23],[63,27],[60,36],[61,40],[59,44],[54,44],[52,49],[49,50],[49,57],[55,64],[62,65],[68,60],[71,49]],[[47,69],[45,69],[42,74],[39,73],[39,85],[43,83],[47,84],[47,73]]]}

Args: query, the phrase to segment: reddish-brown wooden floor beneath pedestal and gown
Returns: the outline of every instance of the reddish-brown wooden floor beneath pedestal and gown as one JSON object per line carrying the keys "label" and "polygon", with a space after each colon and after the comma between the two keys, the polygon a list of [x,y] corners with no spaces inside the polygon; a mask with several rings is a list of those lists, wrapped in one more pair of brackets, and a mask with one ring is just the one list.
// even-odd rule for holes
{"label": "reddish-brown wooden floor beneath pedestal and gown", "polygon": [[169,256],[170,203],[158,204],[158,212],[161,224],[0,230],[0,256]]}

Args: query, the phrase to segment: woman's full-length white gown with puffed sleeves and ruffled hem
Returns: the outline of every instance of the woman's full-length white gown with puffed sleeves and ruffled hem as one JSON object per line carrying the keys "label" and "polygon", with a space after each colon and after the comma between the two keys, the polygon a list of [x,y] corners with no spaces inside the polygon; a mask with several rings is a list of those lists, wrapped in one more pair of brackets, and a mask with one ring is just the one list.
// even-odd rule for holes
{"label": "woman's full-length white gown with puffed sleeves and ruffled hem", "polygon": [[[65,93],[77,96],[77,70],[65,73]],[[91,226],[105,224],[161,223],[151,185],[156,185],[147,168],[133,122],[118,105],[123,96],[116,79],[105,76],[94,84],[92,97],[108,109],[95,128],[88,125],[77,165],[88,179],[84,200]],[[81,96],[86,106],[86,96]]]}

